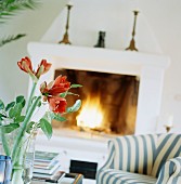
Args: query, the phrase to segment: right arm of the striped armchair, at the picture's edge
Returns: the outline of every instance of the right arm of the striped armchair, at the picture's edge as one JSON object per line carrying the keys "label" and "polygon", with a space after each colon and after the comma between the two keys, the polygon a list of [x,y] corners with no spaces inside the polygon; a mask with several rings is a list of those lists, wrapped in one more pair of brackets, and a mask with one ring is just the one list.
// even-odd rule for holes
{"label": "right arm of the striped armchair, at the picture's edge", "polygon": [[161,167],[156,184],[181,183],[181,157],[172,158]]}

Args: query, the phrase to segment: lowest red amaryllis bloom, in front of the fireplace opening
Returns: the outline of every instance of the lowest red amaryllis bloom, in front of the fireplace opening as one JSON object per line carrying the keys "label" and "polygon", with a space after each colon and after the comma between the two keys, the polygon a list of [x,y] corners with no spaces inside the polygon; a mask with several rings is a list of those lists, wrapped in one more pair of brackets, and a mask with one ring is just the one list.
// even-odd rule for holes
{"label": "lowest red amaryllis bloom, in front of the fireplace opening", "polygon": [[66,109],[66,100],[59,96],[48,97],[50,110],[53,113],[64,113]]}

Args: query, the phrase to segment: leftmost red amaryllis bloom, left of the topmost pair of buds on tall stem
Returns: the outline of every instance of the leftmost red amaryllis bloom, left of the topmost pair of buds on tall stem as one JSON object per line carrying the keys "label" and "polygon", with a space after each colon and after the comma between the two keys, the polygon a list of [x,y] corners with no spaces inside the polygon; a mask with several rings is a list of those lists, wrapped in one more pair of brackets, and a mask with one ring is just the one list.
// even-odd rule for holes
{"label": "leftmost red amaryllis bloom, left of the topmost pair of buds on tall stem", "polygon": [[20,62],[17,62],[18,67],[25,73],[34,73],[33,65],[29,57],[24,57]]}

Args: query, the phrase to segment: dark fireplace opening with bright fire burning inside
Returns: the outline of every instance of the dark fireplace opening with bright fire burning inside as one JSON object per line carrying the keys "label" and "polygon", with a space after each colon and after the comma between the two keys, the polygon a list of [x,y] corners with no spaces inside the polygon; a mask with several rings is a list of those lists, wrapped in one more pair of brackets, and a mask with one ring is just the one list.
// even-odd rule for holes
{"label": "dark fireplace opening with bright fire burning inside", "polygon": [[106,134],[134,133],[139,93],[135,76],[75,69],[57,69],[55,77],[59,75],[82,86],[70,90],[79,96],[67,97],[68,105],[80,98],[82,106],[78,113],[68,114],[67,121],[54,121],[54,128]]}

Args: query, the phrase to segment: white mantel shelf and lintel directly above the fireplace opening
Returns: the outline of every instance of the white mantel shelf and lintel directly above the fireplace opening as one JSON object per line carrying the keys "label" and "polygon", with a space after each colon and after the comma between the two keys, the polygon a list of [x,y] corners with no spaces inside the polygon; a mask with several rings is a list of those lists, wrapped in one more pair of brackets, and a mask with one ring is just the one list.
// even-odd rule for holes
{"label": "white mantel shelf and lintel directly above the fireplace opening", "polygon": [[52,60],[61,60],[62,66],[66,68],[114,74],[138,75],[142,66],[158,68],[169,66],[169,57],[165,55],[102,48],[30,42],[28,52],[40,60],[42,57],[49,58],[50,62]]}

